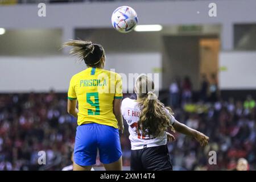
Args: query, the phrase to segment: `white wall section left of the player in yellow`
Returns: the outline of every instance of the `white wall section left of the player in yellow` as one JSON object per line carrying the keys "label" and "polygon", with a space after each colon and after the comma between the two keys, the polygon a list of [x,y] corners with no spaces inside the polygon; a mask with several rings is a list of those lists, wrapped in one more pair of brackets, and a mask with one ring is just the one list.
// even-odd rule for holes
{"label": "white wall section left of the player in yellow", "polygon": [[82,67],[70,57],[1,57],[0,92],[64,92]]}

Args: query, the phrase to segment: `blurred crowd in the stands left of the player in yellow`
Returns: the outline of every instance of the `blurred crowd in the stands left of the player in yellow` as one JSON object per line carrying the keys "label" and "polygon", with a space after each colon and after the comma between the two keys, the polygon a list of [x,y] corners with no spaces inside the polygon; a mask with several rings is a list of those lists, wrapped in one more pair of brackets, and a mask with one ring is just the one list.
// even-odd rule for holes
{"label": "blurred crowd in the stands left of the player in yellow", "polygon": [[[0,95],[0,171],[57,170],[71,163],[76,119],[65,94]],[[39,165],[39,151],[46,165]]]}

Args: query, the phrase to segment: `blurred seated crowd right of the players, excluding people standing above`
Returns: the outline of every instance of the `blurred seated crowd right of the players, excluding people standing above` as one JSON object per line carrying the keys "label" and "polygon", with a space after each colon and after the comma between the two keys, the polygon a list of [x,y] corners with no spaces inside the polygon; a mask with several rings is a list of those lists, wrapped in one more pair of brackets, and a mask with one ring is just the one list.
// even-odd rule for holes
{"label": "blurred seated crowd right of the players, excluding people standing above", "polygon": [[[207,147],[200,147],[195,140],[176,134],[176,142],[169,145],[175,166],[189,170],[234,169],[240,158],[246,158],[250,169],[256,169],[255,101],[253,107],[245,101],[216,101],[204,104],[184,104],[175,109],[175,118],[199,130],[210,138]],[[217,154],[216,165],[210,165],[209,151]]]}

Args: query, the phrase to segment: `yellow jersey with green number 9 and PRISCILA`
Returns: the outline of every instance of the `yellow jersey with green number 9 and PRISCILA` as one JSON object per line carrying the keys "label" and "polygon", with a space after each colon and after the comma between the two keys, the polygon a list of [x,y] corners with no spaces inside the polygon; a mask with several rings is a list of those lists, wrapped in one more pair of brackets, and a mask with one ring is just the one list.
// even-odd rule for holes
{"label": "yellow jersey with green number 9 and PRISCILA", "polygon": [[87,68],[71,78],[68,99],[77,100],[77,124],[98,123],[118,128],[114,98],[122,98],[122,77],[101,68]]}

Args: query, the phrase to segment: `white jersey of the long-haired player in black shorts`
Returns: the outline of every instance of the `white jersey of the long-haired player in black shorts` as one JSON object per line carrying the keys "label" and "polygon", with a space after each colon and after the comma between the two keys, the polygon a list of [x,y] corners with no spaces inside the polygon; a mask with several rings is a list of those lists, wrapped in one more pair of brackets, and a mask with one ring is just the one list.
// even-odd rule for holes
{"label": "white jersey of the long-haired player in black shorts", "polygon": [[[131,141],[131,150],[139,150],[144,148],[145,146],[162,146],[167,143],[166,131],[162,131],[156,138],[150,138],[150,136],[142,136],[142,133],[137,134],[137,125],[141,110],[139,109],[138,102],[136,100],[125,98],[122,101],[121,110],[123,118],[125,118],[125,121],[129,125],[129,139]],[[173,125],[175,118],[171,114],[170,119],[170,123],[171,125]]]}

